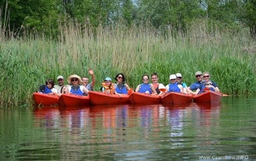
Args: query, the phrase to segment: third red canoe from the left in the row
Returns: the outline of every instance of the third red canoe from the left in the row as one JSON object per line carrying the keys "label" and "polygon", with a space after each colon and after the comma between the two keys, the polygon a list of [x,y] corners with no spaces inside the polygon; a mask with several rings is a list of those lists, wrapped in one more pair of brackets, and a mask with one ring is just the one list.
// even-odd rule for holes
{"label": "third red canoe from the left in the row", "polygon": [[128,94],[105,94],[102,92],[90,91],[90,102],[92,105],[116,105],[129,103]]}

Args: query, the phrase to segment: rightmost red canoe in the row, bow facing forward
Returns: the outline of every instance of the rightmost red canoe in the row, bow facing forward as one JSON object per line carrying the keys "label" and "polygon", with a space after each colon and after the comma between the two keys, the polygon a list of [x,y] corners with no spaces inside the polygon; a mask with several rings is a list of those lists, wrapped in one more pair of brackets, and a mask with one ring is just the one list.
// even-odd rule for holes
{"label": "rightmost red canoe in the row, bow facing forward", "polygon": [[193,101],[196,103],[219,103],[222,95],[213,91],[206,91],[193,96]]}

